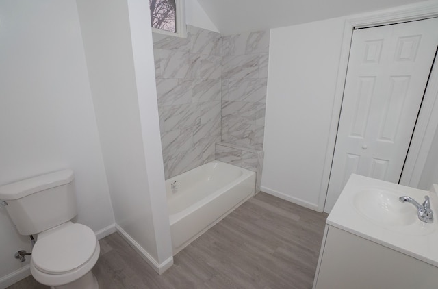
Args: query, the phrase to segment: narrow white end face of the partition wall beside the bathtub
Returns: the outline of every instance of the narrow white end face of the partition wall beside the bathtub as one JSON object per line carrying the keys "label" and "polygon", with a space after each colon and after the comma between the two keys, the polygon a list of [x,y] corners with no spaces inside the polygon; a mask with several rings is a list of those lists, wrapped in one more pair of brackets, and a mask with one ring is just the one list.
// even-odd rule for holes
{"label": "narrow white end face of the partition wall beside the bathtub", "polygon": [[[155,229],[157,262],[164,266],[160,270],[163,272],[173,264],[173,258],[166,188],[164,186],[152,29],[151,21],[147,17],[149,16],[149,2],[129,0],[128,8],[143,137],[142,145],[146,160],[146,179],[148,180],[148,192],[151,200],[151,217]],[[149,232],[146,231],[146,234]]]}

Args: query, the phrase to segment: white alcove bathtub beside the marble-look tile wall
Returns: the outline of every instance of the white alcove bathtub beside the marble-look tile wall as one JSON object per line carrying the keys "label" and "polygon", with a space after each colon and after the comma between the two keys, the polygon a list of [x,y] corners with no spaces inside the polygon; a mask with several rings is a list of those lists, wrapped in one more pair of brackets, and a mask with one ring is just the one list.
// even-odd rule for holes
{"label": "white alcove bathtub beside the marble-look tile wall", "polygon": [[253,196],[255,173],[214,161],[166,180],[166,190],[175,255]]}

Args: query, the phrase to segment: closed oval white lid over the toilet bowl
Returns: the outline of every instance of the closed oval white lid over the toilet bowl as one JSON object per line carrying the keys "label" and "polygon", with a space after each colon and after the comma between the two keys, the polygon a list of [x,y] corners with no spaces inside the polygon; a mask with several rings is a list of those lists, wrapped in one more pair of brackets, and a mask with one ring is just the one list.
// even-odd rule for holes
{"label": "closed oval white lid over the toilet bowl", "polygon": [[38,238],[32,250],[32,262],[45,273],[66,273],[82,266],[92,257],[96,242],[92,229],[71,223]]}

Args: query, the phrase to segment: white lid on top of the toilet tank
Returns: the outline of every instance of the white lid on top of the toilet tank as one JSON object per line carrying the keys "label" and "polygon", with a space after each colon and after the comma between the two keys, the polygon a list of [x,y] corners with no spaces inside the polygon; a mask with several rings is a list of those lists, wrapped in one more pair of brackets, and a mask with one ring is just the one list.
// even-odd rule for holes
{"label": "white lid on top of the toilet tank", "polygon": [[55,188],[70,183],[75,178],[73,171],[70,169],[23,179],[12,184],[0,187],[0,199],[4,201],[21,199],[49,188]]}

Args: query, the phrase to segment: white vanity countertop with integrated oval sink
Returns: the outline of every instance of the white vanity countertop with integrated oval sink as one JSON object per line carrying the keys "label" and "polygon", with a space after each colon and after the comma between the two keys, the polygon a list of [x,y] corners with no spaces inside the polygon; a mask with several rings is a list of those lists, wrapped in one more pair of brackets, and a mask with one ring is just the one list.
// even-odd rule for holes
{"label": "white vanity countertop with integrated oval sink", "polygon": [[[402,196],[409,196],[420,204],[424,196],[428,196],[435,218],[433,223],[420,221],[414,205],[399,201]],[[327,234],[331,234],[329,227],[332,226],[438,267],[438,195],[435,191],[352,174],[327,217],[326,225]],[[359,247],[358,250],[365,248]],[[404,268],[400,270],[402,272]]]}

